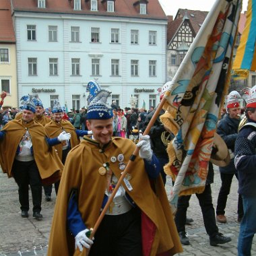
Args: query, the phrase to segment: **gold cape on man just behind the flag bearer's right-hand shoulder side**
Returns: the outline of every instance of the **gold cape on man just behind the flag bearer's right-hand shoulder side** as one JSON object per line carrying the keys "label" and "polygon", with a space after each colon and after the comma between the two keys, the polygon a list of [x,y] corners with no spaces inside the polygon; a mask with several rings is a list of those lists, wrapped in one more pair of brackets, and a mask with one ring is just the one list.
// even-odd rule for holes
{"label": "gold cape on man just behind the flag bearer's right-hand shoulder side", "polygon": [[[61,122],[56,122],[55,120],[52,120],[50,123],[47,123],[44,126],[44,129],[46,130],[46,133],[47,135],[49,135],[50,138],[59,136],[59,133],[63,132],[63,130],[65,130],[67,133],[70,133],[71,148],[74,148],[80,143],[79,138],[75,133],[75,127],[73,127],[73,125],[67,120],[61,120]],[[55,145],[54,147],[57,150],[59,158],[62,159],[62,144]]]}

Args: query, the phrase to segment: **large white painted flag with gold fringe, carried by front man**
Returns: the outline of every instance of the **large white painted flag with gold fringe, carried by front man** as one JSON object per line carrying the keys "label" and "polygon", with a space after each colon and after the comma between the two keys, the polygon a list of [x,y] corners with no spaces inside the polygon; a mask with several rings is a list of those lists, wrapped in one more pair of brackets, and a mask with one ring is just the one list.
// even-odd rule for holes
{"label": "large white painted flag with gold fringe, carried by front man", "polygon": [[242,1],[217,0],[164,94],[161,121],[175,135],[168,144],[166,174],[175,181],[170,195],[202,193],[220,106],[228,92],[232,49]]}

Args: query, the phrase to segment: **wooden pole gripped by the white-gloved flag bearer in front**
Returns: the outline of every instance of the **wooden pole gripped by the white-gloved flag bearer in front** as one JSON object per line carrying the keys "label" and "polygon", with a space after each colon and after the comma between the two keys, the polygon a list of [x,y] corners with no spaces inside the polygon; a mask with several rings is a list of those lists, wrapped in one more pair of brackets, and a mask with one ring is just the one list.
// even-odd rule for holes
{"label": "wooden pole gripped by the white-gloved flag bearer in front", "polygon": [[[154,115],[152,116],[150,123],[148,123],[146,130],[143,132],[143,135],[148,135],[148,133],[150,133],[150,129],[154,125],[156,119],[158,118],[158,115],[159,115],[160,111],[162,110],[162,107],[164,106],[165,102],[166,102],[166,99],[163,97],[162,100],[160,101],[160,103],[158,104],[158,107],[156,108],[156,111],[155,111]],[[92,239],[94,237],[94,234],[96,233],[98,227],[100,226],[100,222],[102,222],[104,215],[106,214],[106,211],[108,210],[108,207],[110,206],[110,203],[112,203],[112,201],[115,197],[115,194],[117,193],[117,190],[119,189],[123,179],[125,179],[125,175],[129,172],[129,170],[131,170],[131,167],[133,166],[133,161],[135,160],[135,157],[138,155],[138,153],[139,153],[139,148],[136,147],[136,149],[134,150],[133,154],[130,157],[130,160],[129,160],[125,170],[123,170],[121,177],[120,177],[119,181],[117,182],[115,189],[113,190],[113,193],[108,198],[106,205],[104,206],[102,212],[100,213],[100,216],[98,217],[98,220],[96,221],[94,228],[90,234],[90,239]],[[87,251],[88,251],[88,253],[87,253],[87,255],[88,255],[90,250],[87,250]]]}

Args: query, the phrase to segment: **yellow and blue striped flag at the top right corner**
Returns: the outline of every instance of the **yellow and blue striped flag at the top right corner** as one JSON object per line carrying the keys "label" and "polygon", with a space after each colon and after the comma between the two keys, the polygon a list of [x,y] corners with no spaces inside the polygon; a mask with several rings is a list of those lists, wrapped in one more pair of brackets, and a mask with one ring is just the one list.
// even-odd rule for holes
{"label": "yellow and blue striped flag at the top right corner", "polygon": [[245,30],[236,51],[232,67],[234,79],[245,79],[249,71],[256,70],[256,0],[249,0],[246,13]]}

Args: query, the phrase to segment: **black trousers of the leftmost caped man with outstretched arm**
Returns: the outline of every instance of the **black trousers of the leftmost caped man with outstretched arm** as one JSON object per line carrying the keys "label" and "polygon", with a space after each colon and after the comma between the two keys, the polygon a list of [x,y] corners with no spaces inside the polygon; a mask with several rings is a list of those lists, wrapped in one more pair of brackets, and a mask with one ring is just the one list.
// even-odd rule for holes
{"label": "black trousers of the leftmost caped man with outstretched arm", "polygon": [[29,210],[28,185],[30,185],[33,202],[33,212],[41,211],[42,180],[36,162],[21,162],[14,160],[12,167],[13,177],[19,187],[20,209]]}

